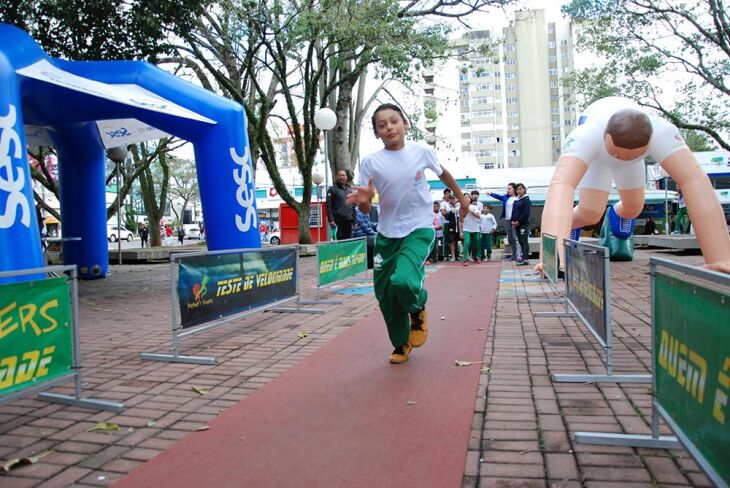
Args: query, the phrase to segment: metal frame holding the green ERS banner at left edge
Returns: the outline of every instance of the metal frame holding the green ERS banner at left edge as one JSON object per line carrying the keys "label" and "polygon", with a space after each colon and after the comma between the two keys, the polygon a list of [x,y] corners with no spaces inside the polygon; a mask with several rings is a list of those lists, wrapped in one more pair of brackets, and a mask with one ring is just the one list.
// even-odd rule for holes
{"label": "metal frame holding the green ERS banner at left edge", "polygon": [[[12,276],[26,276],[44,273],[51,276],[61,276],[68,274],[71,281],[71,335],[73,337],[73,372],[58,376],[48,381],[41,381],[40,384],[25,388],[5,396],[0,396],[0,405],[9,403],[17,398],[38,393],[39,400],[45,400],[53,403],[62,403],[64,405],[73,405],[75,407],[93,408],[97,410],[108,410],[110,412],[121,412],[124,410],[124,404],[109,400],[97,400],[94,398],[85,398],[83,396],[83,381],[81,379],[81,339],[79,338],[79,287],[78,287],[78,270],[75,265],[68,266],[48,266],[45,268],[23,269],[18,271],[0,272],[0,278],[9,278]],[[61,395],[59,393],[50,393],[45,390],[53,386],[63,384],[67,381],[74,380],[74,395]]]}

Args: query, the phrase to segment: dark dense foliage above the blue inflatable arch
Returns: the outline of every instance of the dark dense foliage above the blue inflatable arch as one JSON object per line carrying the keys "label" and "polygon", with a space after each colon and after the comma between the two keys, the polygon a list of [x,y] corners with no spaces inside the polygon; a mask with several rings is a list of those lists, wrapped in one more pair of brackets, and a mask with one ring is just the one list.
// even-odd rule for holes
{"label": "dark dense foliage above the blue inflatable arch", "polygon": [[27,31],[51,55],[149,59],[190,29],[206,0],[4,0],[0,22]]}

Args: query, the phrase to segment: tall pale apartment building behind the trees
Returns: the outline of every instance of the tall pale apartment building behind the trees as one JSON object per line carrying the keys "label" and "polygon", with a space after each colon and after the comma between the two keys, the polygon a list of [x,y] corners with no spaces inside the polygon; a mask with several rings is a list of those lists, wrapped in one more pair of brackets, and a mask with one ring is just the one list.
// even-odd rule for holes
{"label": "tall pale apartment building behind the trees", "polygon": [[444,144],[459,140],[461,154],[486,169],[552,165],[577,119],[561,83],[573,70],[571,26],[519,11],[499,36],[471,31],[451,47],[424,74],[427,141],[453,151]]}

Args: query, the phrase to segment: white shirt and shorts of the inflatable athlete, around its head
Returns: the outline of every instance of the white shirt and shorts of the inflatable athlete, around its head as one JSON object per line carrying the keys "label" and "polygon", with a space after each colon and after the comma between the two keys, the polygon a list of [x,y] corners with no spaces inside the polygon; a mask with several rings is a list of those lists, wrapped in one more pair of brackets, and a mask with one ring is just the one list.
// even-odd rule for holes
{"label": "white shirt and shorts of the inflatable athlete, around its head", "polygon": [[687,145],[679,130],[666,120],[649,115],[652,137],[646,154],[632,160],[616,159],[606,150],[604,132],[606,124],[619,110],[632,108],[641,111],[636,103],[627,98],[607,97],[586,108],[579,119],[579,127],[571,132],[563,144],[563,156],[573,156],[588,165],[581,180],[581,188],[609,191],[611,178],[619,190],[633,190],[645,186],[644,158],[651,155],[661,162]]}

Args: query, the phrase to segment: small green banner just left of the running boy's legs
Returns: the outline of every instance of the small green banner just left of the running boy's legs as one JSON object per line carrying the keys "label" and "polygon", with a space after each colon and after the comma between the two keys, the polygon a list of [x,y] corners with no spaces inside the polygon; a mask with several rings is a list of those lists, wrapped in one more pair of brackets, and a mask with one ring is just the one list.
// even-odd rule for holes
{"label": "small green banner just left of the running boy's legs", "polygon": [[353,239],[317,246],[319,285],[324,286],[368,269],[367,241]]}

